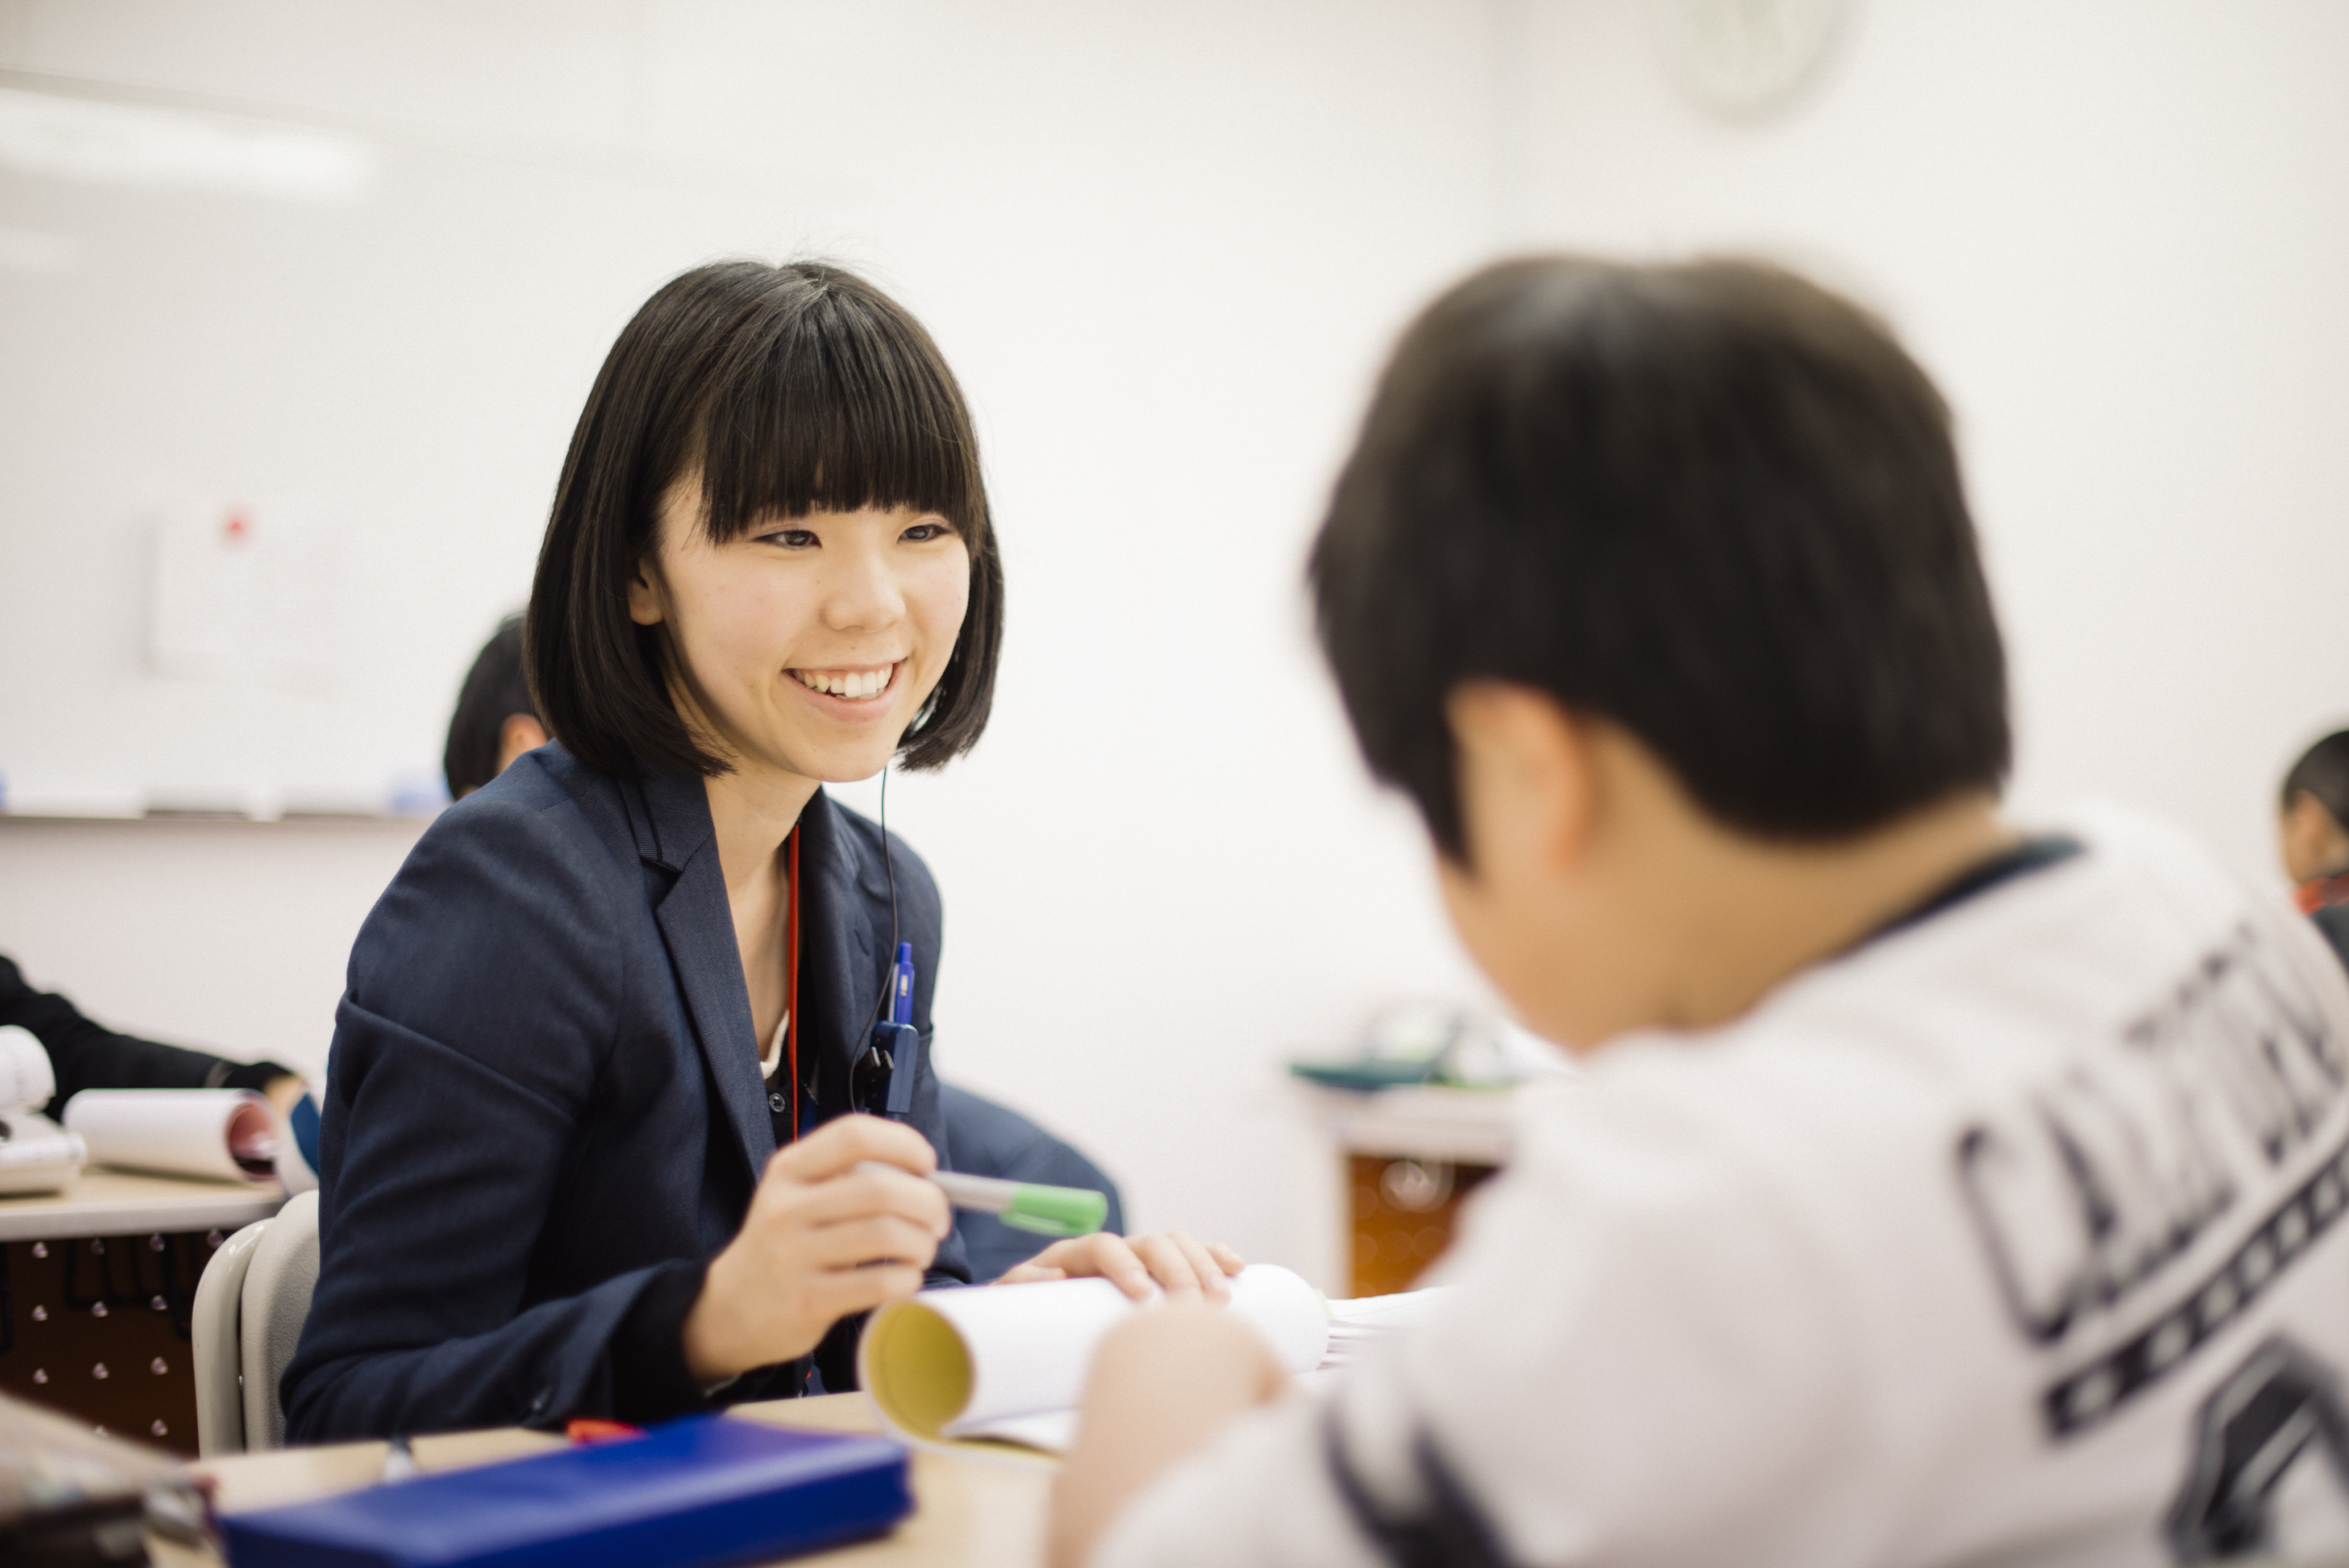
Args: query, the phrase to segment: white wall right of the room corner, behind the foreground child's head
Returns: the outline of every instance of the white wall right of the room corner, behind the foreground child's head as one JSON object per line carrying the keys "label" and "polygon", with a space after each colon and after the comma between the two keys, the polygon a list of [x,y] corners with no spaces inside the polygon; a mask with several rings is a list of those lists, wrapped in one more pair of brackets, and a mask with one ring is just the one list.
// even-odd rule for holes
{"label": "white wall right of the room corner, behind the foreground child's head", "polygon": [[1957,404],[2022,804],[2114,795],[2271,870],[2349,722],[2349,9],[1879,0],[1729,125],[1633,0],[1532,0],[1517,244],[1759,249],[1867,296]]}

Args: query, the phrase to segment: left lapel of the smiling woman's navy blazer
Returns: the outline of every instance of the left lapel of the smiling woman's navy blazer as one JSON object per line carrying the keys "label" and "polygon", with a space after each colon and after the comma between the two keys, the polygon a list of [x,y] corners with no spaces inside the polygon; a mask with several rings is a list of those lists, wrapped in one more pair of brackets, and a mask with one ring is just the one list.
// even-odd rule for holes
{"label": "left lapel of the smiling woman's navy blazer", "polygon": [[[719,1088],[756,1180],[775,1152],[775,1124],[759,1079],[759,1037],[749,1018],[733,907],[726,903],[726,872],[709,825],[709,797],[700,778],[684,773],[646,780],[641,799],[637,853],[677,872],[667,896],[653,905],[653,919],[660,922],[669,966],[686,994],[709,1081]],[[634,811],[630,823],[637,825]]]}

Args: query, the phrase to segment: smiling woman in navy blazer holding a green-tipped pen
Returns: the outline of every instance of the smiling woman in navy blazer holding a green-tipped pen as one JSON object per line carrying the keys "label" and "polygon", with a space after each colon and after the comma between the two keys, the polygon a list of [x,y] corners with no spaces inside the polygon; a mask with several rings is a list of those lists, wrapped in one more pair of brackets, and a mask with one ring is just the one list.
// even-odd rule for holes
{"label": "smiling woman in navy blazer holding a green-tipped pen", "polygon": [[[822,785],[970,750],[1001,637],[970,411],[911,315],[747,261],[637,313],[531,592],[554,743],[425,832],[350,957],[296,1441],[846,1389],[864,1312],[968,1281],[921,1180],[937,886]],[[895,940],[902,1124],[855,1072]],[[1233,1269],[1097,1237],[1010,1276]]]}

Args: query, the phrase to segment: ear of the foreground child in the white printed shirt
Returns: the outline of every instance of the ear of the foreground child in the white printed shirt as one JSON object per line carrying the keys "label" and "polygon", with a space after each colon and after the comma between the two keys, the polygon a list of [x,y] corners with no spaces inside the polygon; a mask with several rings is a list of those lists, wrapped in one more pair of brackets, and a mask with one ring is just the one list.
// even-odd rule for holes
{"label": "ear of the foreground child in the white printed shirt", "polygon": [[1546,691],[1496,679],[1454,686],[1445,717],[1459,752],[1463,870],[1571,875],[1600,804],[1588,722]]}

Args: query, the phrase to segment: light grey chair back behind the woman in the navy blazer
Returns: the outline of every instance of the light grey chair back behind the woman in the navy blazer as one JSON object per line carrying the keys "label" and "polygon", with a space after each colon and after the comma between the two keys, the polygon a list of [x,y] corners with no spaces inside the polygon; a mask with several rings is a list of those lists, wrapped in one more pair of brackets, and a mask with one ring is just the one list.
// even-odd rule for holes
{"label": "light grey chair back behind the woman in the navy blazer", "polygon": [[317,1192],[287,1199],[221,1244],[195,1286],[195,1446],[204,1458],[284,1448],[277,1378],[317,1288]]}

